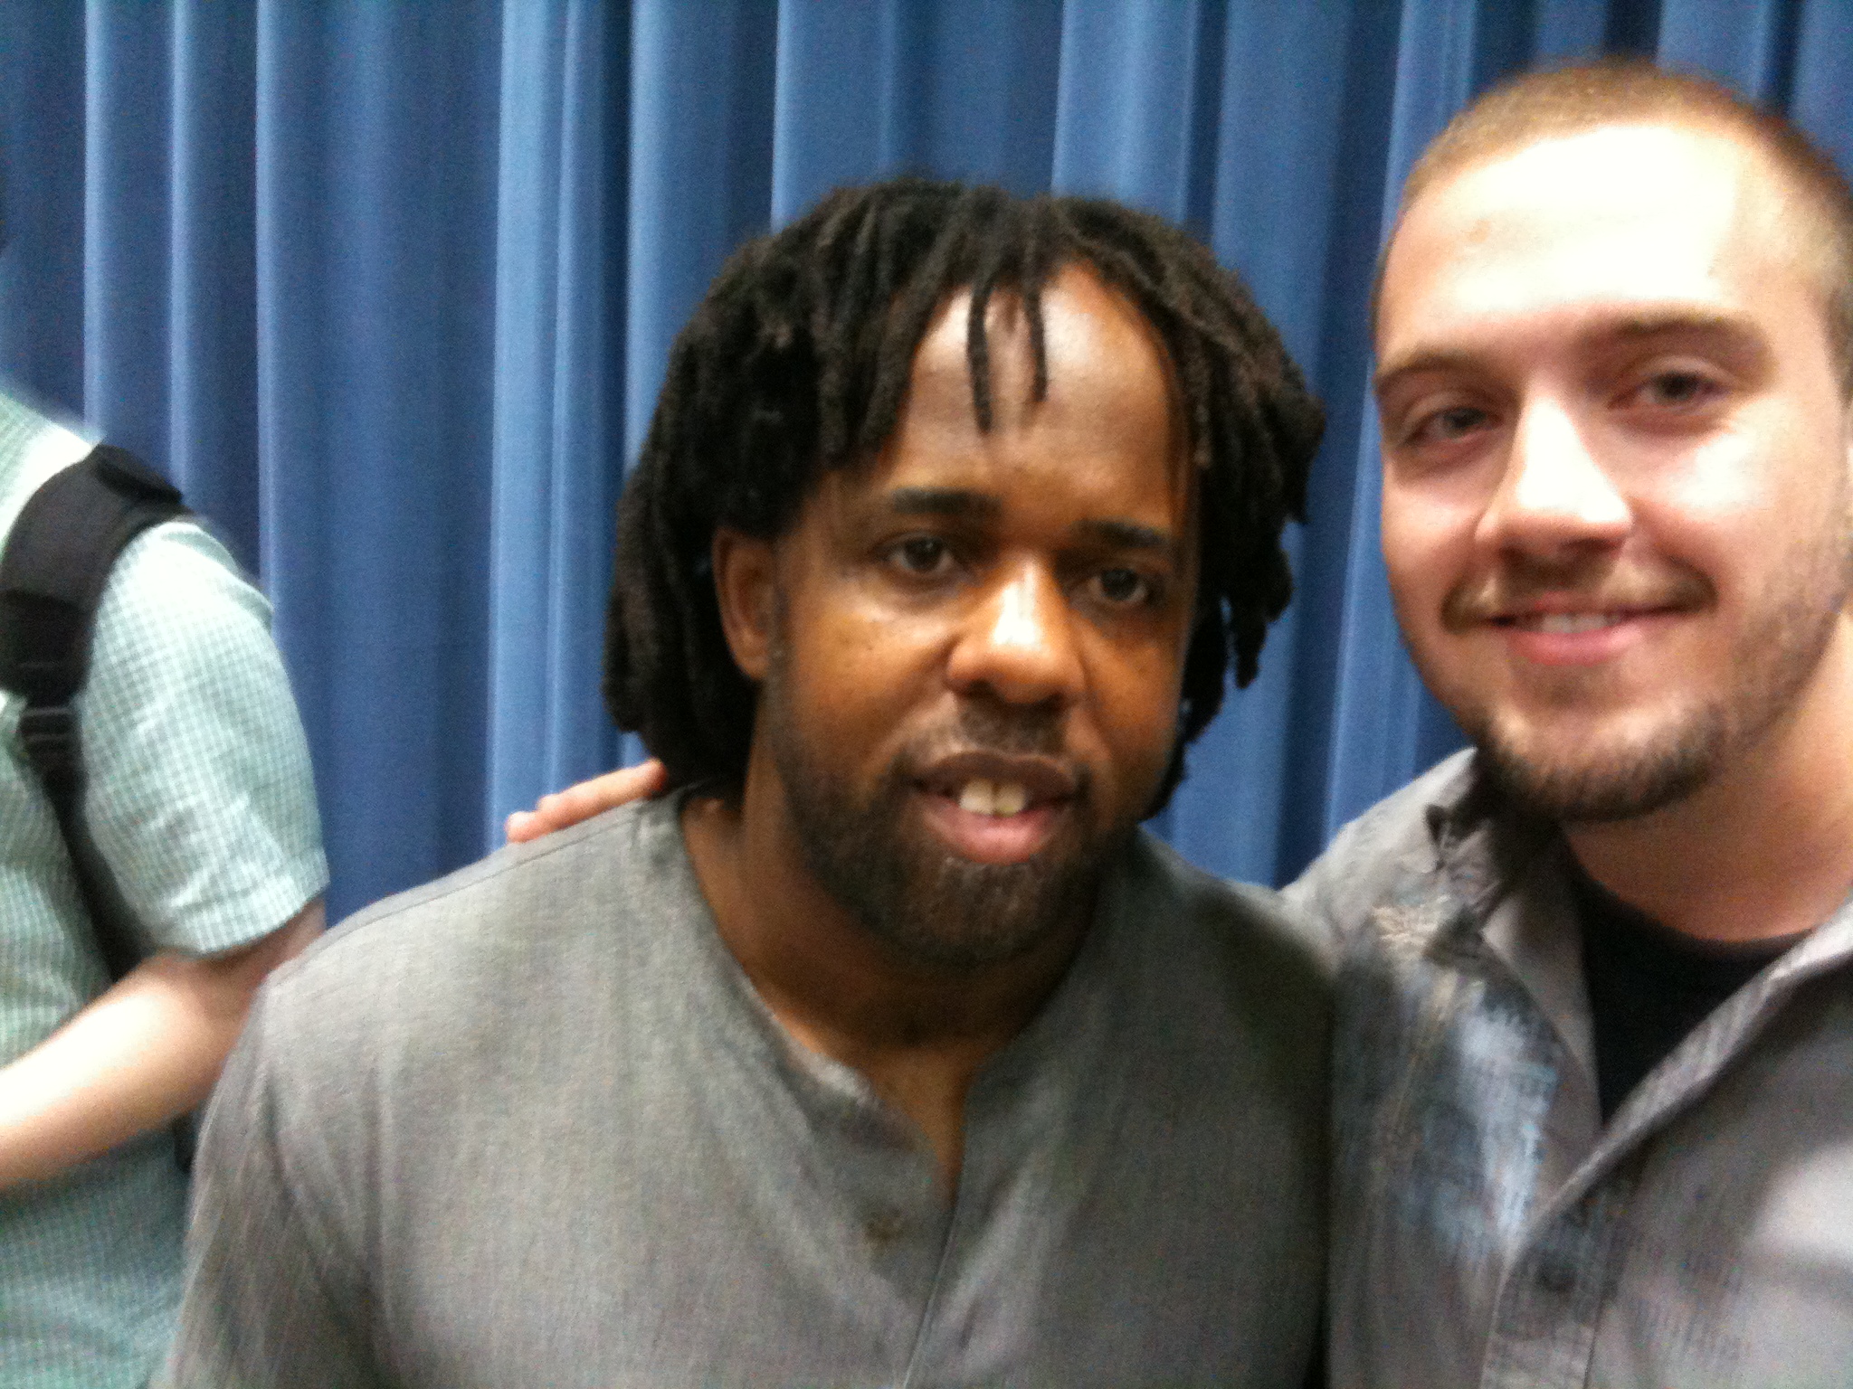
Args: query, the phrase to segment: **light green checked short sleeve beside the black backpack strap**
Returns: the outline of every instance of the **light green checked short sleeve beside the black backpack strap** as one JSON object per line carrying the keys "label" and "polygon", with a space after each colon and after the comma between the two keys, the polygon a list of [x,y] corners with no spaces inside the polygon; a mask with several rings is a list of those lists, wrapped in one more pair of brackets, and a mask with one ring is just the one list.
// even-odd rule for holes
{"label": "light green checked short sleeve beside the black backpack strap", "polygon": [[271,606],[200,526],[167,522],[122,552],[78,709],[85,819],[159,948],[245,945],[322,891],[308,739]]}

